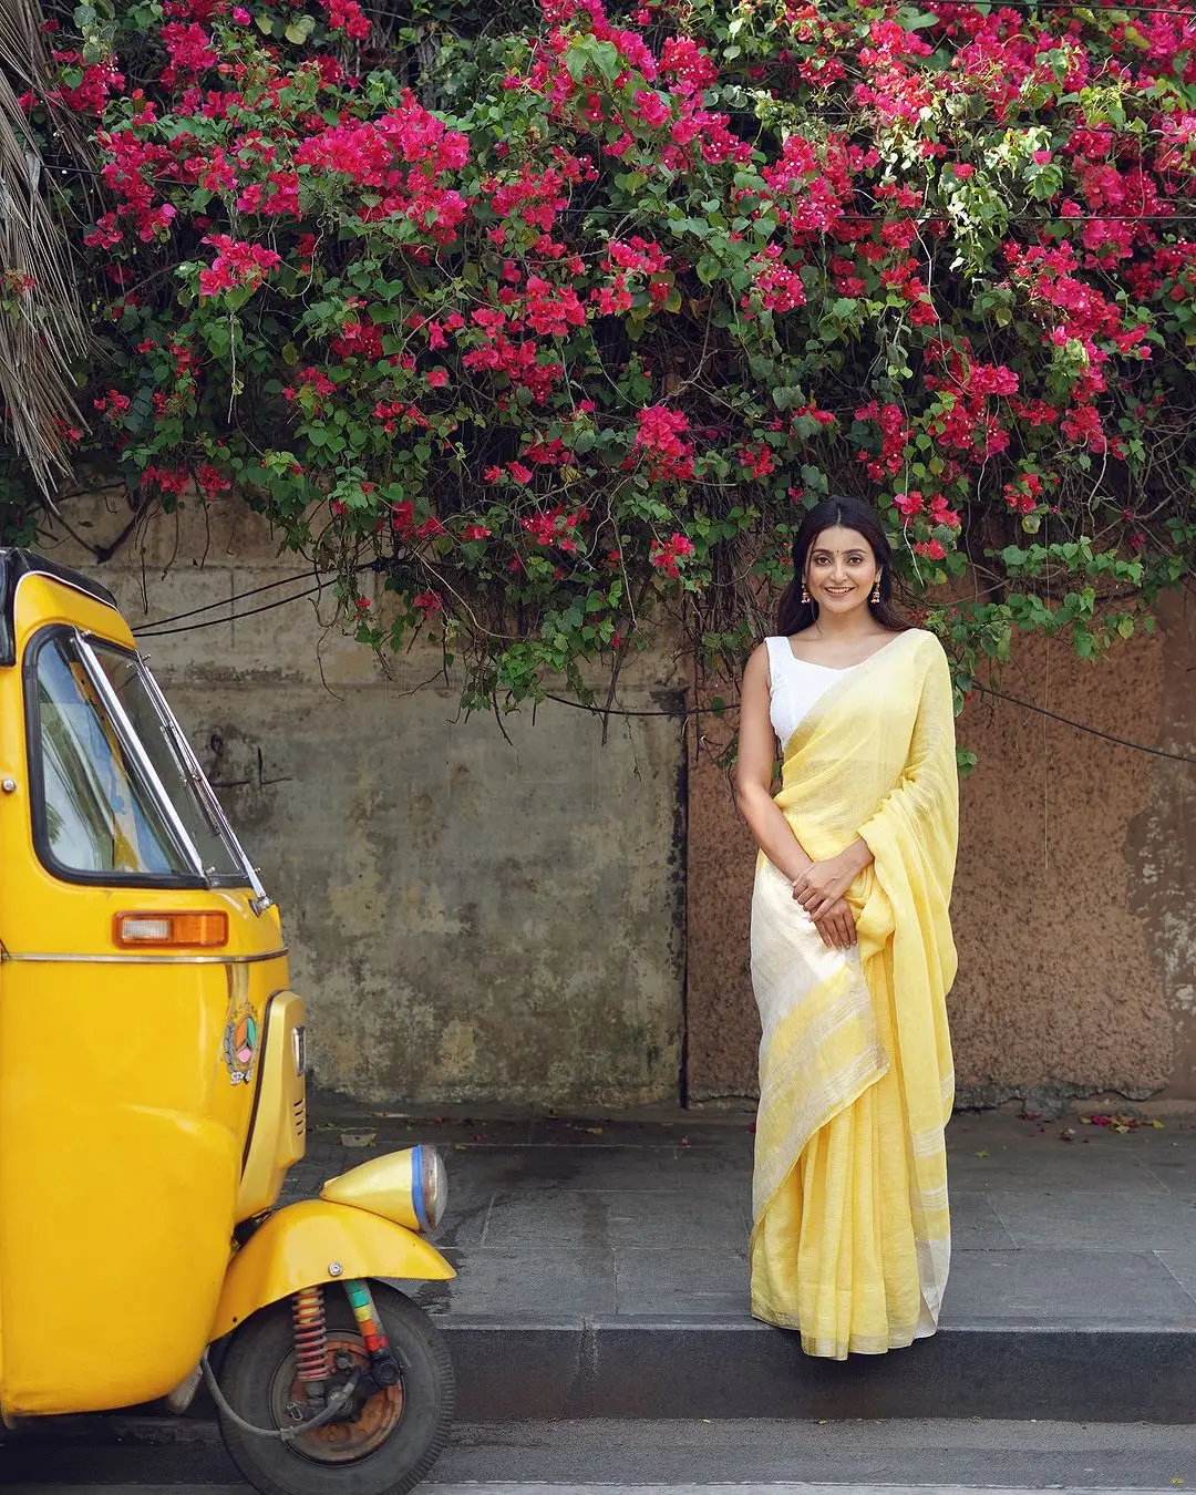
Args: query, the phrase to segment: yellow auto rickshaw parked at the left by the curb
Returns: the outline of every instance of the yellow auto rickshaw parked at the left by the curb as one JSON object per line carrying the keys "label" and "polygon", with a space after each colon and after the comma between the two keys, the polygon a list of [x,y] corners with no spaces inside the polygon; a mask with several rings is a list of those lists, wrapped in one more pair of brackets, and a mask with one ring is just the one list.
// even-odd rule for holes
{"label": "yellow auto rickshaw parked at the left by the curb", "polygon": [[[434,1148],[277,1209],[303,1156],[277,907],[114,598],[0,549],[0,1414],[205,1378],[269,1495],[401,1495],[453,1414]],[[0,1483],[3,1483],[0,1450]]]}

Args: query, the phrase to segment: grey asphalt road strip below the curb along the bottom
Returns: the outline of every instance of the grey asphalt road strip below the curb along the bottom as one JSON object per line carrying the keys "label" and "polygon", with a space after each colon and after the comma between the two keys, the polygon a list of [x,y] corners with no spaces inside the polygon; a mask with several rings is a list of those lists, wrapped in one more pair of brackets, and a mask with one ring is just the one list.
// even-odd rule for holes
{"label": "grey asphalt road strip below the curb along the bottom", "polygon": [[[0,1446],[4,1495],[247,1495],[205,1423],[157,1447]],[[459,1426],[428,1495],[969,1495],[1196,1491],[1196,1428],[1051,1422]]]}

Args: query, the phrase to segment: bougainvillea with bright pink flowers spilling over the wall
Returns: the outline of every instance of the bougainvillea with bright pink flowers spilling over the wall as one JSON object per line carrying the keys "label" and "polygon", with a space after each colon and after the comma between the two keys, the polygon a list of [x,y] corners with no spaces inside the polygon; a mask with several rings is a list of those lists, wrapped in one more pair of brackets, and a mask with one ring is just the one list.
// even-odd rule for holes
{"label": "bougainvillea with bright pink flowers spilling over the wall", "polygon": [[245,495],[471,698],[582,689],[662,622],[742,656],[827,492],[881,507],[964,686],[1189,571],[1190,3],[46,15],[76,469],[135,511]]}

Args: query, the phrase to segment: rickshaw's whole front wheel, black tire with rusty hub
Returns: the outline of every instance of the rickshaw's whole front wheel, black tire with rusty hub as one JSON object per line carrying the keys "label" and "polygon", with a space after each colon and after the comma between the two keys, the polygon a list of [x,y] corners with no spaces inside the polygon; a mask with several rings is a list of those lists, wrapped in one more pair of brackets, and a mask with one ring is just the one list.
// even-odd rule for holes
{"label": "rickshaw's whole front wheel, black tire with rusty hub", "polygon": [[[453,1366],[440,1331],[398,1289],[371,1283],[371,1293],[399,1363],[398,1386],[371,1396],[353,1420],[327,1423],[290,1443],[248,1434],[221,1414],[229,1455],[262,1495],[407,1495],[449,1441]],[[365,1369],[365,1344],[338,1286],[324,1287],[324,1307],[330,1356]],[[236,1331],[220,1389],[253,1426],[290,1426],[299,1380],[289,1302],[263,1308]]]}

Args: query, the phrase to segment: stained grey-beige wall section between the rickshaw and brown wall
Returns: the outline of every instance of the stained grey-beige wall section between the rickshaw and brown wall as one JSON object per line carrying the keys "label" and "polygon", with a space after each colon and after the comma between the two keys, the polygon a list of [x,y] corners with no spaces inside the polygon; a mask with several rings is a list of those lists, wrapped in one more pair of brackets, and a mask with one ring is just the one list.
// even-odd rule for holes
{"label": "stained grey-beige wall section between the rickshaw and brown wall", "polygon": [[[118,528],[102,505],[88,538]],[[230,622],[293,573],[259,522],[158,519],[102,579],[135,629],[209,602],[145,652],[277,897],[315,1078],[378,1102],[674,1100],[683,999],[683,759],[549,703],[463,719],[416,653],[387,676],[312,599]],[[169,567],[169,571],[166,570]],[[164,574],[166,573],[166,574]],[[306,583],[299,574],[293,589]],[[260,607],[292,588],[238,604]],[[676,700],[662,665],[626,704]]]}

